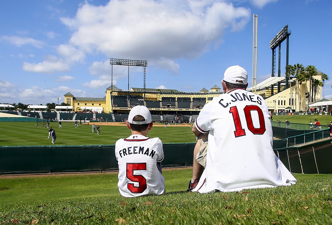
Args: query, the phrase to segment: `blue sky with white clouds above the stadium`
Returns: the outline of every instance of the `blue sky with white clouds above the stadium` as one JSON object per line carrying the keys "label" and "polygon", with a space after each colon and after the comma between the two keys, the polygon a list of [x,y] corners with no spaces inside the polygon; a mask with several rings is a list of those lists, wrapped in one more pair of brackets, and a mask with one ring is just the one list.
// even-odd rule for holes
{"label": "blue sky with white clouds above the stadium", "polygon": [[[331,12],[327,0],[2,0],[0,103],[57,104],[67,92],[105,97],[110,58],[147,60],[146,88],[221,87],[231,65],[248,71],[251,86],[253,14],[257,82],[271,76],[269,42],[288,25],[289,63],[327,74],[322,97],[331,99]],[[282,76],[285,66],[286,41]],[[126,90],[127,82],[128,67],[113,66],[113,84]],[[143,67],[129,68],[129,87],[143,87]]]}

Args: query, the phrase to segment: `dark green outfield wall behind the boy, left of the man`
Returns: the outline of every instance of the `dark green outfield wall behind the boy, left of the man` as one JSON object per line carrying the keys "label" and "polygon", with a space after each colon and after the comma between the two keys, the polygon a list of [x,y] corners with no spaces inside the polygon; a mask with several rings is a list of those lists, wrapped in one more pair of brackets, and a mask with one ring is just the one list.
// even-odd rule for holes
{"label": "dark green outfield wall behind the boy, left of the man", "polygon": [[[163,144],[163,167],[193,165],[196,143]],[[118,170],[115,145],[0,146],[0,174]]]}

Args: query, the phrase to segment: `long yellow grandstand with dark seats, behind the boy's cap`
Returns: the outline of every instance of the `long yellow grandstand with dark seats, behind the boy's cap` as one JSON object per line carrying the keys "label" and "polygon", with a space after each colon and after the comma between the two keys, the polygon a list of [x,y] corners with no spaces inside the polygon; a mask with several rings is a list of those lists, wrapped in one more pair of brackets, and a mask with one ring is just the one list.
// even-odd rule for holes
{"label": "long yellow grandstand with dark seats, behind the boy's cap", "polygon": [[190,122],[197,118],[207,102],[222,94],[217,85],[199,92],[151,88],[121,90],[113,85],[105,93],[104,98],[82,98],[68,92],[64,95],[64,102],[75,112],[113,113],[113,121],[124,121],[133,106],[144,105],[150,110],[154,121]]}

